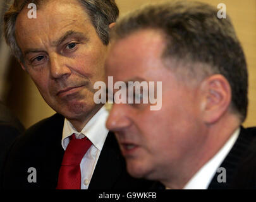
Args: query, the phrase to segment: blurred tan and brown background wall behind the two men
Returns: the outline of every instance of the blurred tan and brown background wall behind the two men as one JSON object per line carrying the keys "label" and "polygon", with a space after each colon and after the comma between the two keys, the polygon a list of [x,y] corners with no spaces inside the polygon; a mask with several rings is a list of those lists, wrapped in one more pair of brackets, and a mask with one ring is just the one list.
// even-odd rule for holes
{"label": "blurred tan and brown background wall behind the two men", "polygon": [[[238,38],[247,57],[249,73],[249,107],[244,126],[256,125],[256,0],[199,0],[217,8],[226,4],[227,13],[233,20]],[[0,15],[3,27],[3,13],[8,9],[8,0],[1,0]],[[116,0],[120,14],[136,9],[143,4],[159,3],[159,0]],[[0,100],[20,119],[25,128],[51,116],[55,112],[44,102],[37,88],[16,59],[9,54],[1,29],[0,40]]]}

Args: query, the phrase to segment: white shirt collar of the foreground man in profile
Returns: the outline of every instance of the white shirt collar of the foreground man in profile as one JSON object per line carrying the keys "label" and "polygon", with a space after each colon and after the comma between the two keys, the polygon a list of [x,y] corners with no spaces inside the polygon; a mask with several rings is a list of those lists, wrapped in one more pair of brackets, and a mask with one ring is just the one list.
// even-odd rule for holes
{"label": "white shirt collar of the foreground man in profile", "polygon": [[186,183],[183,189],[207,189],[210,182],[212,181],[212,177],[214,177],[217,169],[235,144],[239,133],[240,128],[236,129],[235,133],[230,136],[229,140],[225,143],[224,146],[222,146],[221,150],[219,150],[216,155],[214,155],[214,157],[212,157],[207,163],[205,163],[203,167],[197,171],[195,175],[193,175],[192,179]]}

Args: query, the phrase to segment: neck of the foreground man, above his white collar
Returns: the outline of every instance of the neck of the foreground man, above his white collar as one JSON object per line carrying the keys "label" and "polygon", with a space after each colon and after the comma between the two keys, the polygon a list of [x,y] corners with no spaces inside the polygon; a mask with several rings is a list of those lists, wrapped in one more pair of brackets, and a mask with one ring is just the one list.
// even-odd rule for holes
{"label": "neck of the foreground man, above his white collar", "polygon": [[[235,116],[231,116],[225,121],[218,121],[212,126],[207,126],[205,140],[200,145],[187,151],[188,155],[175,168],[167,169],[162,181],[160,180],[162,184],[171,189],[183,189],[193,175],[221,150],[239,126],[240,121]],[[170,170],[173,170],[173,172],[170,172]]]}

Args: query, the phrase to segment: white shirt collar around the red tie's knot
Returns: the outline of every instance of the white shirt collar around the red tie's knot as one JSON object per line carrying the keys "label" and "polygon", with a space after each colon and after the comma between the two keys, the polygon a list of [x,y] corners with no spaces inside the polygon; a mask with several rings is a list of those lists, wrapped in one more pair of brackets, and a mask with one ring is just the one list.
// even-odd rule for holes
{"label": "white shirt collar around the red tie's knot", "polygon": [[101,109],[96,114],[94,114],[90,121],[87,122],[87,124],[85,125],[85,127],[83,127],[80,133],[76,131],[76,129],[72,126],[71,122],[65,118],[63,135],[61,140],[61,145],[63,149],[66,150],[66,147],[70,142],[68,137],[75,133],[76,138],[79,138],[81,136],[87,136],[92,144],[101,151],[107,138],[107,133],[109,132],[106,128],[107,116],[108,112],[105,106],[101,107]]}

